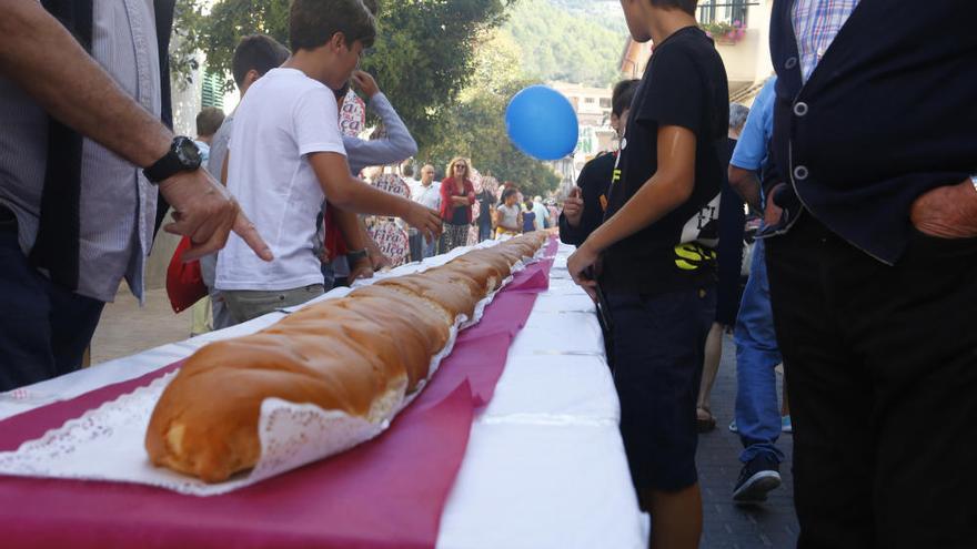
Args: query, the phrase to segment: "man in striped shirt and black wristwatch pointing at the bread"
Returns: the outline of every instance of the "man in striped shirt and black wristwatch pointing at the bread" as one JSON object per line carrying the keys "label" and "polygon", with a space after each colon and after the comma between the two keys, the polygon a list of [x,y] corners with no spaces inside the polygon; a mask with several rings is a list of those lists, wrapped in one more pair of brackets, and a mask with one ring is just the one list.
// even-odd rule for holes
{"label": "man in striped shirt and black wristwatch pointing at the bread", "polygon": [[157,187],[188,260],[232,228],[272,257],[193,142],[160,122],[172,7],[0,7],[0,390],[78,368],[123,277],[142,297]]}

